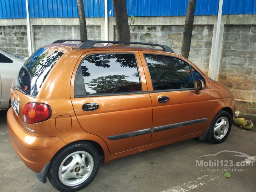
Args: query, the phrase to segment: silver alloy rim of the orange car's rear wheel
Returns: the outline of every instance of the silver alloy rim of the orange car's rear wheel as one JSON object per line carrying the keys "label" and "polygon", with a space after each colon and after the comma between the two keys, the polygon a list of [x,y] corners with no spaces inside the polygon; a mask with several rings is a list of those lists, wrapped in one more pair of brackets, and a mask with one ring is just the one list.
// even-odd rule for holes
{"label": "silver alloy rim of the orange car's rear wheel", "polygon": [[88,179],[92,171],[93,157],[85,151],[77,151],[61,162],[59,178],[64,185],[75,186]]}

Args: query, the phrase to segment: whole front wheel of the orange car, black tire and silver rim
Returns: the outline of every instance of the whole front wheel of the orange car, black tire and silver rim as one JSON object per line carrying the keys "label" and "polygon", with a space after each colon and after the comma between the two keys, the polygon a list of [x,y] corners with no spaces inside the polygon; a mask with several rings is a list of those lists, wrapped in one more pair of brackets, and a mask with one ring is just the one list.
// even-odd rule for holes
{"label": "whole front wheel of the orange car, black tire and silver rim", "polygon": [[210,124],[206,140],[213,144],[222,143],[228,137],[232,127],[231,115],[220,110]]}

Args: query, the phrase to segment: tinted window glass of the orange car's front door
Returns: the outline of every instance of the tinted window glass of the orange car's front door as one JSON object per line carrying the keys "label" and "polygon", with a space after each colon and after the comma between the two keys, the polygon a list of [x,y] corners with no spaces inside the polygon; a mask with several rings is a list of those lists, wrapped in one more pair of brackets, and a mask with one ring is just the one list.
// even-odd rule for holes
{"label": "tinted window glass of the orange car's front door", "polygon": [[188,63],[164,55],[145,54],[154,90],[193,88]]}

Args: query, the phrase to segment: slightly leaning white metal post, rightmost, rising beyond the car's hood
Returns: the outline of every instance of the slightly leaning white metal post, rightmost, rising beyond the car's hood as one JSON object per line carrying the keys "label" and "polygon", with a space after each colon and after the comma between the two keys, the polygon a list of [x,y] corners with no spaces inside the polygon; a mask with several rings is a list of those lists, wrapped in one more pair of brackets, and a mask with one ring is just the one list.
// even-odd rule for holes
{"label": "slightly leaning white metal post, rightmost, rising beyond the car's hood", "polygon": [[214,53],[213,53],[213,65],[212,65],[211,79],[214,79],[214,77],[215,77],[215,70],[216,70],[215,68],[216,68],[216,61],[217,61],[218,43],[219,43],[219,38],[220,38],[222,4],[223,4],[223,0],[219,0],[218,20],[217,20],[217,28],[216,28],[215,47],[214,47]]}

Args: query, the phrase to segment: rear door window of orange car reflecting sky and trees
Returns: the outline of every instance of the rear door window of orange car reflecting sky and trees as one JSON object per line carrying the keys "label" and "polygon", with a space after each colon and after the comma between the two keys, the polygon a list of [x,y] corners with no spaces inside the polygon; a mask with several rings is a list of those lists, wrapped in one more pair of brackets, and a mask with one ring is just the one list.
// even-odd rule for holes
{"label": "rear door window of orange car reflecting sky and trees", "polygon": [[90,55],[81,70],[86,94],[141,91],[134,54]]}

